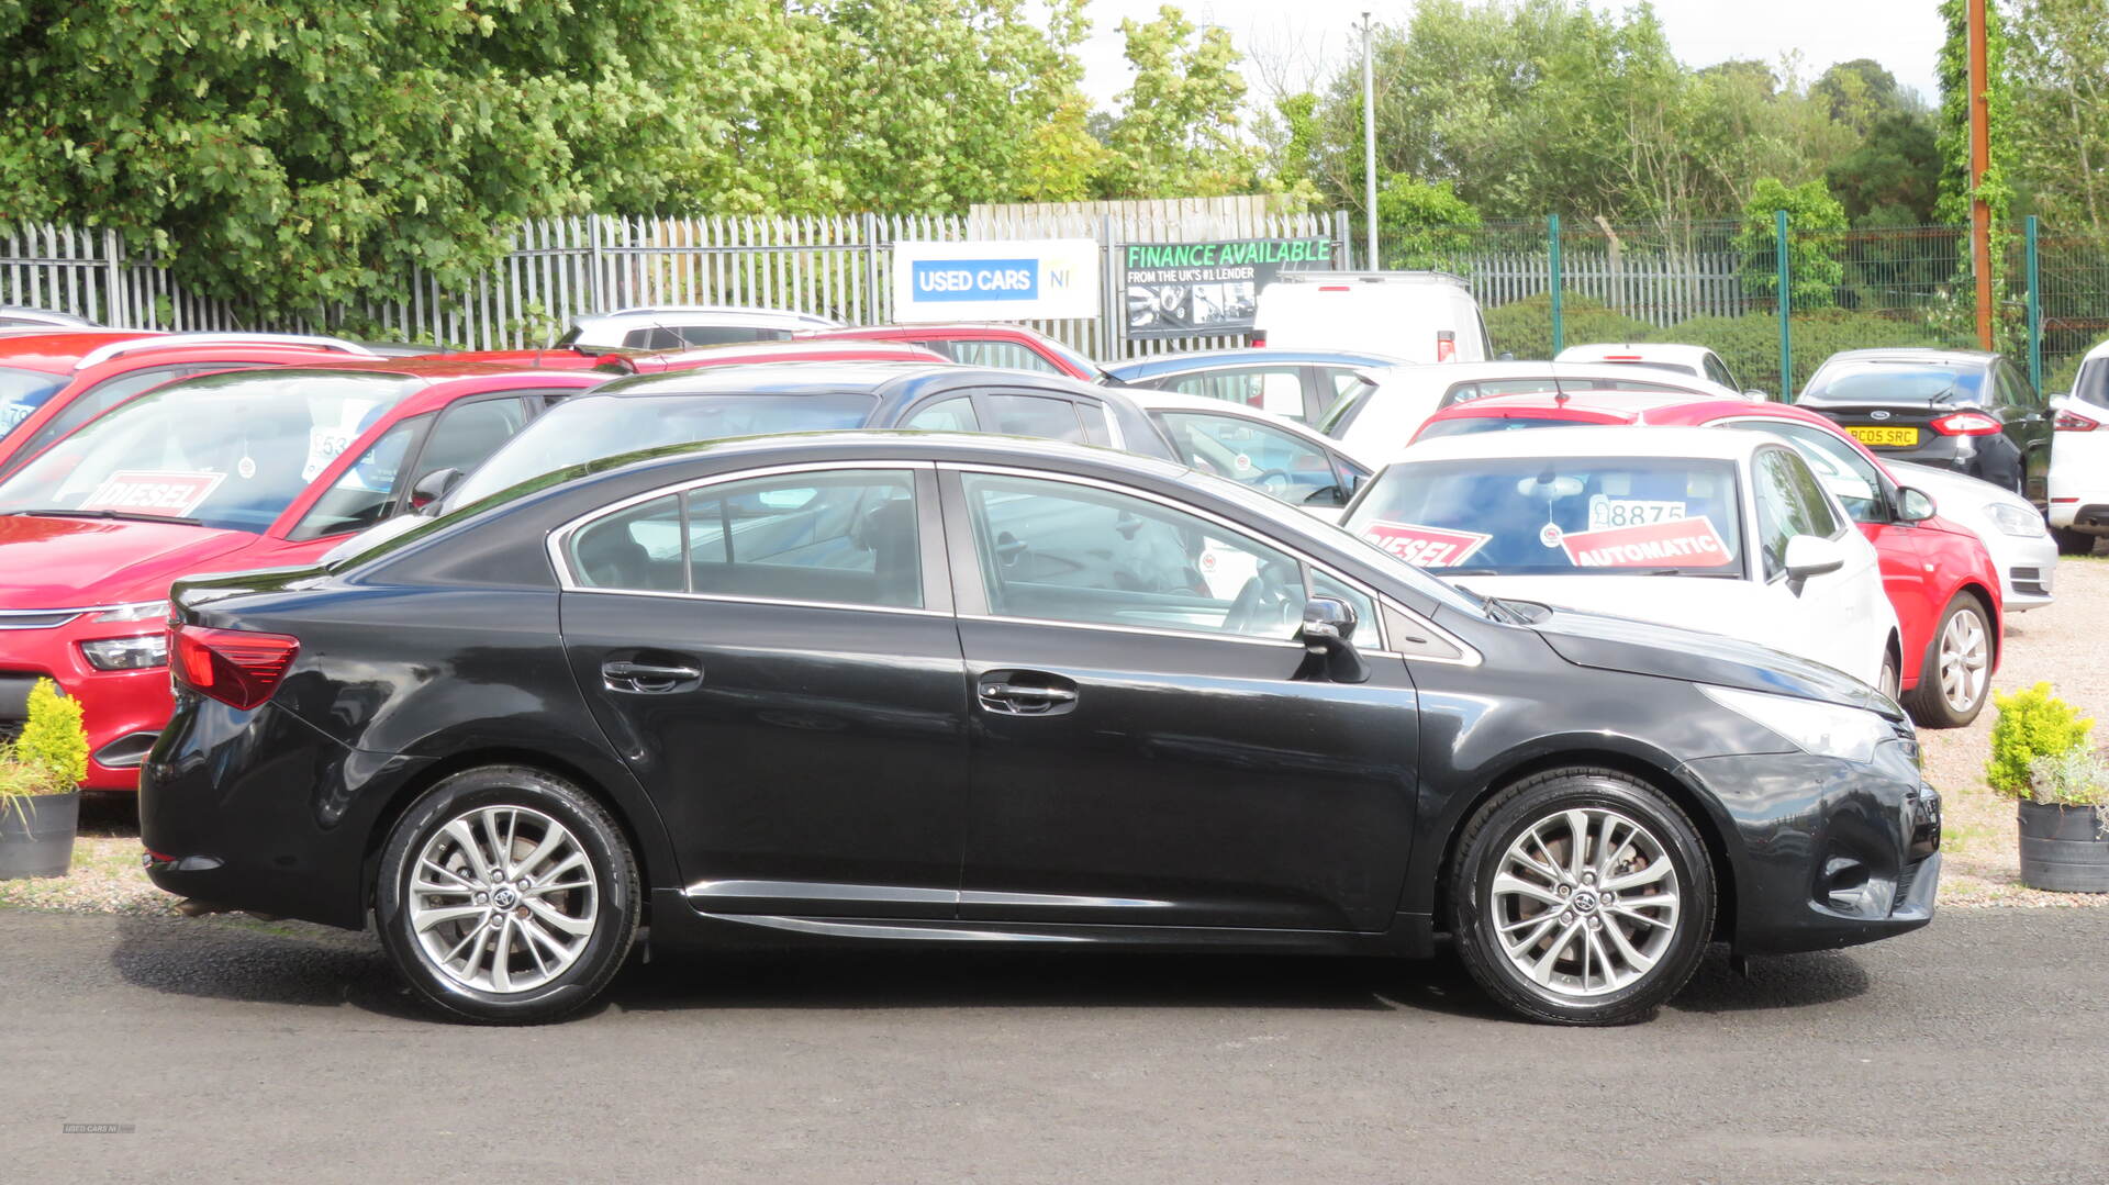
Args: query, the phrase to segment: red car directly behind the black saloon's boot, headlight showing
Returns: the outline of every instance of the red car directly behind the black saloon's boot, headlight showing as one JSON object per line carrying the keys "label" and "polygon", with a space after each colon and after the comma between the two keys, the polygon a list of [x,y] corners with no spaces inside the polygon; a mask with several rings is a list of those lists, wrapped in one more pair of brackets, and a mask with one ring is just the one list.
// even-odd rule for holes
{"label": "red car directly behind the black saloon's boot, headlight showing", "polygon": [[171,711],[169,582],[312,563],[605,380],[386,358],[200,375],[93,420],[0,481],[0,730],[55,679],[86,719],[82,784],[135,789]]}

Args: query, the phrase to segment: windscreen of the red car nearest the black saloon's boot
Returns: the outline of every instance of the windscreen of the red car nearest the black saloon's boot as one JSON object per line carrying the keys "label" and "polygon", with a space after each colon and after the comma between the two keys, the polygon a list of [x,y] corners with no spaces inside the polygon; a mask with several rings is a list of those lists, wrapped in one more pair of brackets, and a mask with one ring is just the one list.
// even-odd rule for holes
{"label": "windscreen of the red car nearest the black saloon's boot", "polygon": [[0,514],[152,514],[264,531],[420,386],[403,375],[316,371],[175,382],[91,420],[0,483]]}

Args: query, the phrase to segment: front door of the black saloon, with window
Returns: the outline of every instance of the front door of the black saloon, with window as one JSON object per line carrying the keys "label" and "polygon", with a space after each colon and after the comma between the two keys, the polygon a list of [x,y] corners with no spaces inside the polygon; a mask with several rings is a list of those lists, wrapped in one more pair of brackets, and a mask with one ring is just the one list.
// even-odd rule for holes
{"label": "front door of the black saloon, with window", "polygon": [[[1373,597],[1166,498],[941,472],[972,719],[960,917],[1390,926],[1417,700]],[[1211,582],[1230,569],[1251,576]],[[1367,683],[1297,679],[1308,590],[1356,607]]]}

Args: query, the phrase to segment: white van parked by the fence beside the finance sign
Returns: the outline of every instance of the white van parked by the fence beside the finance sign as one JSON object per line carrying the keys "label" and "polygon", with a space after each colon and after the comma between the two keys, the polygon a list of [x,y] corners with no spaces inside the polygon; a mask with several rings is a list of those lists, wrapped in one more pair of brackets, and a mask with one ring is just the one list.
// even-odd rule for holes
{"label": "white van parked by the fence beside the finance sign", "polygon": [[1253,344],[1485,363],[1487,323],[1449,272],[1286,272],[1259,293]]}

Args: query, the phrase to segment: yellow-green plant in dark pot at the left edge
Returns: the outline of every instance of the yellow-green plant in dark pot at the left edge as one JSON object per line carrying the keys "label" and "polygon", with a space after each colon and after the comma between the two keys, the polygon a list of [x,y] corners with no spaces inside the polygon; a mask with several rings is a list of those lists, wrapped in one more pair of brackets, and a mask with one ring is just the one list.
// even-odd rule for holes
{"label": "yellow-green plant in dark pot at the left edge", "polygon": [[80,704],[51,679],[38,679],[21,736],[0,742],[0,879],[65,875],[86,774]]}

